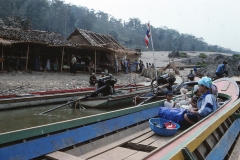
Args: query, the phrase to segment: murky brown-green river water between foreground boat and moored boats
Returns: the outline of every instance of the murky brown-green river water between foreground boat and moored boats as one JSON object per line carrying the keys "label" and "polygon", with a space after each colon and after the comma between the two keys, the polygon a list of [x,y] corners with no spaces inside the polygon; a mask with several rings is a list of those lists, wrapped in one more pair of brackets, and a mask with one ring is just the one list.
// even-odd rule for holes
{"label": "murky brown-green river water between foreground boat and moored boats", "polygon": [[[14,130],[20,130],[24,128],[45,125],[80,117],[91,116],[100,113],[106,113],[109,111],[121,109],[96,109],[86,108],[84,110],[72,109],[69,106],[65,106],[54,111],[51,111],[45,115],[39,115],[39,113],[48,109],[54,108],[57,105],[45,105],[35,106],[32,108],[21,108],[16,110],[0,111],[0,133],[10,132]],[[126,106],[122,107],[126,108]]]}

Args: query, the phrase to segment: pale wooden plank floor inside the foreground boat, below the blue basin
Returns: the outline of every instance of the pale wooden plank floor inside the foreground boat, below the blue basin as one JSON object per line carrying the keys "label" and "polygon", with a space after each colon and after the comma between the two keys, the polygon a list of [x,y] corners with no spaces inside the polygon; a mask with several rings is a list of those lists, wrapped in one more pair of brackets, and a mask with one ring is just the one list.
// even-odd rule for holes
{"label": "pale wooden plank floor inside the foreground boat, below the blue basin", "polygon": [[[181,131],[178,131],[175,136],[180,133]],[[135,160],[144,158],[151,151],[165,145],[172,138],[173,136],[161,137],[154,134],[149,128],[149,122],[146,121],[63,152],[80,159]],[[46,157],[49,157],[49,155],[46,155]]]}

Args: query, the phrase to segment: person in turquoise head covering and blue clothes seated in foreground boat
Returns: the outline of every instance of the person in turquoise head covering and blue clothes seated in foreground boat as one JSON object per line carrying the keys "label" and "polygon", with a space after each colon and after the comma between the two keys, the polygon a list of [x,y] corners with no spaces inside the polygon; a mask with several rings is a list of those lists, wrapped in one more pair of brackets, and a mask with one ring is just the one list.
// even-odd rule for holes
{"label": "person in turquoise head covering and blue clothes seated in foreground boat", "polygon": [[192,108],[190,112],[184,114],[184,120],[189,124],[195,124],[217,109],[216,97],[211,94],[212,80],[203,77],[198,81],[198,91],[201,96],[197,101],[197,108]]}

